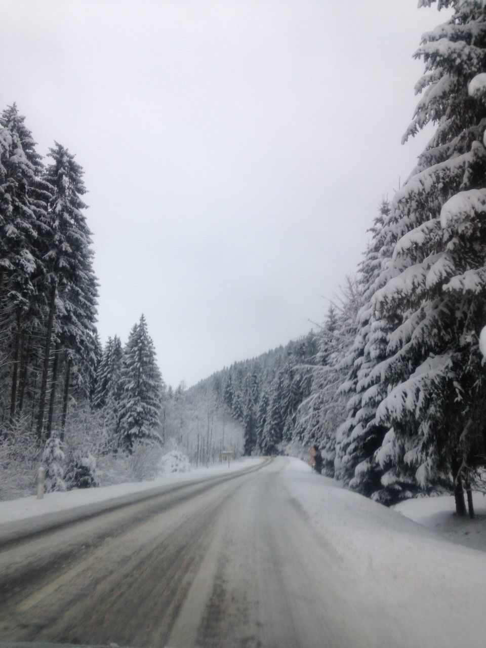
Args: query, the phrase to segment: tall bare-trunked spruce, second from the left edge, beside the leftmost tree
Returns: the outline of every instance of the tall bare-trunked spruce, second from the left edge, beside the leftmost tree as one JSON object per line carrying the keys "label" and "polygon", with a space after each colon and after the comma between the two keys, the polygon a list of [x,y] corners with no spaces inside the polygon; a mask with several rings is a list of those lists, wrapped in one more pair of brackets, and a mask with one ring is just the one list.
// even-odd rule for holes
{"label": "tall bare-trunked spruce, second from the left edge, beside the leftmost tree", "polygon": [[[84,172],[76,163],[75,156],[57,142],[54,148],[49,149],[48,156],[52,158],[52,163],[46,168],[44,179],[54,187],[54,191],[49,201],[46,220],[46,227],[51,231],[51,235],[45,239],[43,250],[49,307],[37,422],[39,438],[44,425],[52,335],[54,334],[58,343],[53,373],[54,370],[57,371],[56,363],[60,352],[71,352],[65,354],[65,393],[69,393],[73,368],[77,369],[79,380],[84,371],[89,373],[96,364],[97,280],[93,272],[91,232],[83,213],[87,205],[81,200],[81,196],[86,193],[82,179]],[[56,384],[57,380],[52,381],[51,403],[55,398]],[[52,407],[47,422],[48,437],[51,428]]]}

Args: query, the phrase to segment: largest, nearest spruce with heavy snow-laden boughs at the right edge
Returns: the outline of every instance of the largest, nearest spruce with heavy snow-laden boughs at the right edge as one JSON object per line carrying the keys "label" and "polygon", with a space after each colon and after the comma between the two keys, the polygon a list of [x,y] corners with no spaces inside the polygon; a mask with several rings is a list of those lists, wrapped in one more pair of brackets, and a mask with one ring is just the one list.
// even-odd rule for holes
{"label": "largest, nearest spruce with heavy snow-laden boughs at the right edge", "polygon": [[379,316],[401,316],[389,358],[376,367],[390,390],[376,421],[393,426],[385,456],[413,469],[422,488],[452,472],[463,513],[461,477],[484,454],[483,424],[472,421],[485,393],[478,334],[486,321],[486,117],[474,95],[486,69],[486,12],[479,0],[438,4],[453,13],[415,54],[426,74],[404,140],[428,122],[437,130],[393,198],[384,227],[385,242],[397,240],[393,264],[373,297]]}

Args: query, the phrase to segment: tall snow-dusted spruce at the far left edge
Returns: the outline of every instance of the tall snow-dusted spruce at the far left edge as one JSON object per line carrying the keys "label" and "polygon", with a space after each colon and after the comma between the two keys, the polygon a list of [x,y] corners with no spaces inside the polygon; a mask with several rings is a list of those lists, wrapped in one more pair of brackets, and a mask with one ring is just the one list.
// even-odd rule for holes
{"label": "tall snow-dusted spruce at the far left edge", "polygon": [[[19,400],[23,343],[32,341],[42,292],[36,279],[43,273],[36,240],[41,231],[51,187],[41,180],[41,156],[16,104],[0,115],[0,383],[7,393],[11,424]],[[5,406],[7,402],[5,402]],[[6,409],[6,407],[5,407]],[[4,408],[3,408],[3,411]]]}

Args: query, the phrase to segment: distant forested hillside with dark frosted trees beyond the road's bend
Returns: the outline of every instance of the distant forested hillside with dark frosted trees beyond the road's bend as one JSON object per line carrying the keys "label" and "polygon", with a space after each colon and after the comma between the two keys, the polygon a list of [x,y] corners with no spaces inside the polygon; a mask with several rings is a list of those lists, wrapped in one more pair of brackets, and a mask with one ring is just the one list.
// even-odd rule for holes
{"label": "distant forested hillside with dark frosted trees beyond the road's bend", "polygon": [[343,360],[356,335],[361,291],[360,280],[347,277],[318,331],[235,362],[193,388],[212,391],[242,424],[245,454],[303,457],[317,443],[325,472],[332,472],[335,430],[345,417]]}

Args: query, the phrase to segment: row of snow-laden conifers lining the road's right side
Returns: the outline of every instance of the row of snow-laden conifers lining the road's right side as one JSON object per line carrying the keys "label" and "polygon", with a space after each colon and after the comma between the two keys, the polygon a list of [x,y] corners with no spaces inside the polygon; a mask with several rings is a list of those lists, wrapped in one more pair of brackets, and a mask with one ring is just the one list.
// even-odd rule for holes
{"label": "row of snow-laden conifers lining the road's right side", "polygon": [[[486,12],[444,6],[452,17],[415,53],[425,74],[404,141],[428,123],[435,134],[380,205],[358,290],[321,330],[310,395],[278,439],[317,443],[325,474],[378,502],[448,488],[464,514],[486,463]],[[247,452],[277,441],[247,439]]]}

